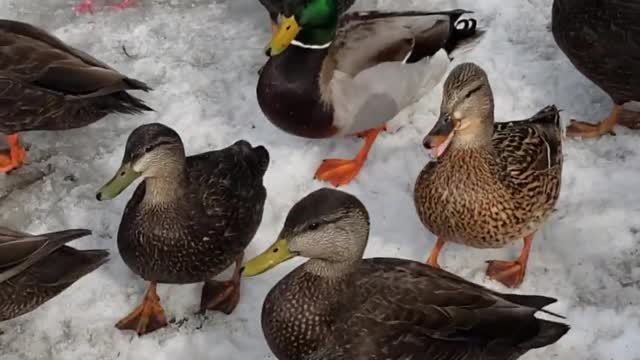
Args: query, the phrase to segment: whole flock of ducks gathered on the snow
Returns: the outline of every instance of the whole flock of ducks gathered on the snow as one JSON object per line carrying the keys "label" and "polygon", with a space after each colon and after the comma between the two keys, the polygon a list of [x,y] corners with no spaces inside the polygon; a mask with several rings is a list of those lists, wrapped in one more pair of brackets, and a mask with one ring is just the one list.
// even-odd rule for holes
{"label": "whole flock of ducks gathered on the snow", "polygon": [[[354,159],[325,160],[315,176],[349,183],[385,122],[430,91],[450,54],[482,32],[469,11],[347,12],[354,0],[260,0],[273,37],[257,85],[266,117],[308,138],[358,134]],[[88,2],[90,5],[90,1]],[[550,9],[551,10],[551,9]],[[639,1],[555,0],[552,32],[573,64],[614,103],[596,125],[569,136],[607,134],[640,100]],[[463,18],[464,17],[464,18]],[[0,131],[9,149],[0,171],[23,165],[18,133],[64,130],[109,114],[151,110],[129,94],[150,91],[32,25],[0,21]],[[346,192],[324,188],[289,211],[278,240],[244,262],[263,215],[269,153],[244,140],[186,156],[179,134],[146,124],[129,136],[122,165],[97,193],[118,196],[142,179],[118,230],[120,256],[149,282],[142,303],[117,322],[139,335],[167,325],[158,283],[204,283],[201,311],[231,313],[240,282],[297,257],[309,260],[267,295],[262,328],[278,359],[516,359],[555,343],[569,326],[534,316],[556,300],[499,293],[440,269],[446,242],[497,248],[524,240],[515,261],[491,261],[487,275],[508,287],[524,277],[531,242],[558,199],[562,132],[555,106],[523,121],[494,123],[487,74],[456,66],[441,113],[424,138],[434,159],[415,184],[415,206],[438,240],[427,260],[363,259],[369,215]],[[9,175],[13,176],[13,175]],[[65,245],[88,230],[31,235],[0,228],[0,321],[30,312],[105,263],[103,250]],[[227,281],[213,280],[230,266]]]}

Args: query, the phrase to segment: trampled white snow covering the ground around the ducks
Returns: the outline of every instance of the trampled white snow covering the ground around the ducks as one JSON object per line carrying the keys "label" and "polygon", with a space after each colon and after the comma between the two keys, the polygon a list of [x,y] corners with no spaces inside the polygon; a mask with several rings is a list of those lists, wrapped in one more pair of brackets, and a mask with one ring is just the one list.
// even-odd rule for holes
{"label": "trampled white snow covering the ground around the ducks", "polygon": [[[361,0],[362,1],[362,0]],[[99,0],[95,1],[98,5]],[[230,316],[195,316],[200,285],[159,286],[170,327],[138,338],[114,323],[141,300],[145,283],[119,258],[115,234],[129,189],[99,203],[95,191],[117,169],[128,134],[162,122],[182,136],[188,153],[220,148],[243,138],[265,145],[272,157],[262,226],[247,251],[270,244],[289,208],[323,186],[312,180],[326,157],[349,157],[360,140],[306,140],[280,132],[255,98],[257,70],[269,36],[256,0],[141,0],[121,13],[75,16],[71,0],[0,0],[0,17],[52,30],[115,68],[148,82],[141,95],[157,112],[110,116],[79,130],[33,132],[30,164],[0,175],[0,223],[30,232],[86,227],[94,235],[80,248],[107,248],[112,261],[37,311],[0,324],[0,359],[273,359],[260,328],[262,300],[299,262],[243,283]],[[484,40],[457,62],[483,66],[496,95],[498,119],[525,118],[555,103],[570,117],[599,119],[611,104],[556,47],[549,31],[551,0],[379,0],[381,8],[475,10]],[[125,46],[131,55],[123,54]],[[367,256],[423,260],[434,236],[420,224],[413,183],[427,161],[423,135],[438,112],[441,88],[391,123],[366,167],[345,190],[369,208],[372,236]],[[140,94],[136,94],[140,95]],[[527,278],[518,292],[557,297],[550,309],[568,317],[572,330],[554,346],[524,359],[640,359],[640,133],[567,140],[558,211],[534,241]],[[485,260],[517,256],[521,243],[501,250],[447,245],[441,264],[494,289]]]}

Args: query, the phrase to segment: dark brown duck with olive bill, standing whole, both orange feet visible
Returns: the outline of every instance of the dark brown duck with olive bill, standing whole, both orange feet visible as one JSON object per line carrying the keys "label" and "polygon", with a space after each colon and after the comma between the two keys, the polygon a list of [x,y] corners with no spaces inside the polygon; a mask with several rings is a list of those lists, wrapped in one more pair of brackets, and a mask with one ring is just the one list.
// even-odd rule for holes
{"label": "dark brown duck with olive bill, standing whole, both orange feet visible", "polygon": [[[246,141],[185,157],[180,136],[167,126],[148,124],[131,133],[122,166],[97,195],[112,199],[144,179],[122,215],[118,248],[150,285],[143,304],[118,322],[119,329],[142,335],[166,325],[156,283],[204,282],[201,311],[233,311],[244,249],[262,220],[268,165],[267,150]],[[231,280],[211,280],[234,262]]]}

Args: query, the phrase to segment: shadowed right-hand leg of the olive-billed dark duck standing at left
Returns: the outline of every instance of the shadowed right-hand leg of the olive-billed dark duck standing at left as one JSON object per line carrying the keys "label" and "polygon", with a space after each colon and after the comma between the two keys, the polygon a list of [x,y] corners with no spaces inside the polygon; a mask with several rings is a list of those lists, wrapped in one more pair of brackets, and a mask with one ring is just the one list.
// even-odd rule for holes
{"label": "shadowed right-hand leg of the olive-billed dark duck standing at left", "polygon": [[200,298],[200,313],[207,310],[221,311],[227,315],[233,312],[240,301],[240,269],[244,253],[236,258],[236,268],[233,277],[228,281],[208,280],[202,288]]}

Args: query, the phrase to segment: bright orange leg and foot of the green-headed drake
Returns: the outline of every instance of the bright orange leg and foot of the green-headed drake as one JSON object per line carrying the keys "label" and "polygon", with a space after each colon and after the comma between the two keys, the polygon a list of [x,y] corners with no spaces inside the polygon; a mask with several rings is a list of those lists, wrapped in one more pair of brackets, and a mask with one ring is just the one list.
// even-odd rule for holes
{"label": "bright orange leg and foot of the green-headed drake", "polygon": [[358,175],[358,172],[360,172],[365,160],[367,160],[367,155],[369,155],[373,142],[378,137],[378,134],[384,129],[385,126],[381,126],[376,129],[367,130],[364,134],[364,145],[354,159],[323,160],[320,167],[318,167],[318,170],[316,170],[315,178],[328,181],[331,185],[336,187],[346,185],[351,182],[351,180]]}

